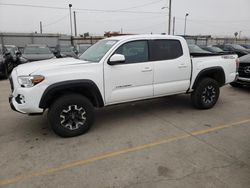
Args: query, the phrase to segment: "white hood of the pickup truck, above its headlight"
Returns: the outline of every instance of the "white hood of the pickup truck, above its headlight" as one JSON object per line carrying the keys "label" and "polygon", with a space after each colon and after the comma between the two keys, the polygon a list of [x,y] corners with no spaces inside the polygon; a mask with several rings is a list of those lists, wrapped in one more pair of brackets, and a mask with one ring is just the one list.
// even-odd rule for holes
{"label": "white hood of the pickup truck, above its headlight", "polygon": [[44,69],[57,69],[62,66],[69,66],[75,64],[87,64],[90,62],[82,61],[74,58],[60,58],[49,59],[43,61],[36,61],[17,66],[16,71],[18,75],[31,75],[32,73]]}

